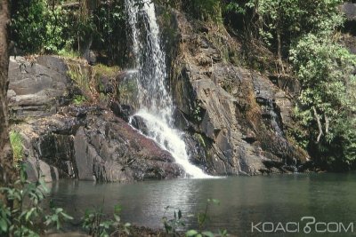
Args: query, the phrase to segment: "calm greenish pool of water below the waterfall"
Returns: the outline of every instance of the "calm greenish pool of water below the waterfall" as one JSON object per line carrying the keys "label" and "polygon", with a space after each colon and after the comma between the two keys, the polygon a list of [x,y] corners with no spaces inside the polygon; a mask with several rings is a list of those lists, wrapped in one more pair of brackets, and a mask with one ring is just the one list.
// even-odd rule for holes
{"label": "calm greenish pool of water below the waterfall", "polygon": [[[51,188],[54,203],[74,217],[82,217],[87,208],[101,206],[104,212],[112,213],[114,205],[120,203],[123,221],[134,225],[162,227],[162,217],[173,217],[174,209],[181,209],[186,228],[196,228],[194,215],[205,209],[208,198],[214,198],[220,205],[208,209],[210,222],[206,229],[211,231],[227,229],[238,236],[305,236],[305,224],[315,217],[316,223],[327,223],[318,225],[320,231],[337,232],[316,233],[315,224],[311,224],[309,236],[356,235],[355,173],[175,179],[134,184],[61,180],[51,184]],[[167,206],[172,208],[166,211]],[[301,221],[302,217],[309,218]],[[294,224],[287,226],[288,222]],[[328,225],[330,222],[334,224]],[[256,226],[254,232],[252,223]],[[347,233],[343,226],[350,227]],[[298,233],[287,233],[296,230]]]}

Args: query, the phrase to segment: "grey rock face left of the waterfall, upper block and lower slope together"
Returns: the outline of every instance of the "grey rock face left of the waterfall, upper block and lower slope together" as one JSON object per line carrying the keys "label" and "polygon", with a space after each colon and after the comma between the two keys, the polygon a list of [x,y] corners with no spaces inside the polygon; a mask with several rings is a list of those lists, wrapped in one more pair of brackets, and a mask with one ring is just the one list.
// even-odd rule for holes
{"label": "grey rock face left of the waterfall, upper block and lower slope together", "polygon": [[[68,106],[75,88],[65,62],[52,56],[11,59],[12,130],[21,134],[28,177],[128,182],[183,175],[160,149],[106,107]],[[66,103],[62,103],[66,101]]]}

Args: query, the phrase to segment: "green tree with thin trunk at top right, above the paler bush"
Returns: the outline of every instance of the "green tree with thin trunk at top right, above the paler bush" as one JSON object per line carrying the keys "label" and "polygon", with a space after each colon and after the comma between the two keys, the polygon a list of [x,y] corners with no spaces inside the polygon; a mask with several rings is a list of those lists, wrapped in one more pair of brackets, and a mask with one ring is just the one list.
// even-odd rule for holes
{"label": "green tree with thin trunk at top right, above the paler bush", "polygon": [[[231,0],[228,11],[252,10],[259,38],[277,53],[280,71],[291,45],[309,33],[333,31],[343,23],[342,0]],[[284,57],[283,57],[284,56]]]}

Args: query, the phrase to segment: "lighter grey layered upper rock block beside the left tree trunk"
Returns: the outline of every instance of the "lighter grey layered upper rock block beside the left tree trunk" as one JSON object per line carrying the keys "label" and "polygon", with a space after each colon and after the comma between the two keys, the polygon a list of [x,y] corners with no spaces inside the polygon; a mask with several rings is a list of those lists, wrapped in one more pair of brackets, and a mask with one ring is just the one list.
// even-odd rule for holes
{"label": "lighter grey layered upper rock block beside the left tree trunk", "polygon": [[66,71],[66,64],[54,56],[42,56],[33,62],[11,57],[7,94],[11,119],[54,115],[68,95]]}

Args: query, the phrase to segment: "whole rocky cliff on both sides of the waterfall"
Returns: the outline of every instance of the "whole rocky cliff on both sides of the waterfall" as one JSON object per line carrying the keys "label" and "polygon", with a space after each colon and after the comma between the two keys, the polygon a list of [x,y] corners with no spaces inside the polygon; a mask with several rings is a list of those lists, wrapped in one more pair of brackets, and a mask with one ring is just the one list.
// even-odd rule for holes
{"label": "whole rocky cliff on both sides of the waterfall", "polygon": [[[190,162],[219,176],[303,170],[308,155],[286,133],[294,126],[299,84],[242,67],[231,56],[239,42],[223,28],[188,20],[181,12],[169,16],[160,20],[167,79]],[[81,64],[80,74],[92,70]],[[137,108],[134,71],[100,83],[89,75],[84,89],[70,70],[68,60],[55,56],[11,59],[12,129],[23,138],[32,179],[126,182],[183,175],[172,155],[143,135],[140,118],[133,122],[138,130],[127,123]],[[105,103],[74,103],[85,90],[103,94]]]}

